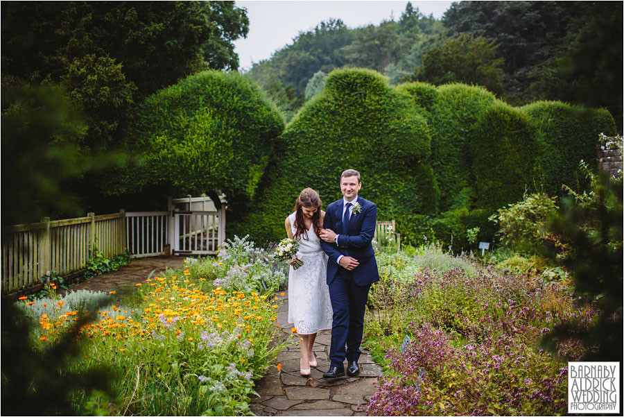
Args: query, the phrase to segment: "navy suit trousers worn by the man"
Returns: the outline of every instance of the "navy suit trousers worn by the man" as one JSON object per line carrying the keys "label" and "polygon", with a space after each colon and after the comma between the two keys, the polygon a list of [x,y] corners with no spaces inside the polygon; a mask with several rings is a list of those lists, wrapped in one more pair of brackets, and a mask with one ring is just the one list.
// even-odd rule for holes
{"label": "navy suit trousers worn by the man", "polygon": [[356,284],[352,271],[343,267],[338,268],[336,277],[329,284],[329,299],[333,309],[329,348],[331,366],[344,366],[345,358],[347,361],[357,361],[360,357],[370,285]]}

